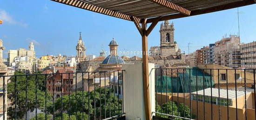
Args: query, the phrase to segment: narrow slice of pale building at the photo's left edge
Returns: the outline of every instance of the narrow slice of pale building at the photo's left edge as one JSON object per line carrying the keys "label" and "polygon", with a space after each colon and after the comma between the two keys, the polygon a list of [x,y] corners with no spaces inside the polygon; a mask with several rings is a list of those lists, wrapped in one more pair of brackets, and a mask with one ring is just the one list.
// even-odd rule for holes
{"label": "narrow slice of pale building at the photo's left edge", "polygon": [[[0,76],[7,76],[7,66],[2,63],[3,50],[5,50],[5,47],[0,39]],[[7,116],[7,78],[3,79],[3,77],[0,77],[0,120],[4,120],[3,114]],[[5,117],[5,120],[7,120],[7,117]]]}

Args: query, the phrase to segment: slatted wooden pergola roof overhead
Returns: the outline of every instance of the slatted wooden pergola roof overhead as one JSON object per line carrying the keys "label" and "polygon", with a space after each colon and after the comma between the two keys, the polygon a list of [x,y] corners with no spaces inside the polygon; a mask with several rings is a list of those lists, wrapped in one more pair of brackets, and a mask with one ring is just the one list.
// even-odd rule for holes
{"label": "slatted wooden pergola roof overhead", "polygon": [[[255,4],[256,0],[52,0],[120,19],[147,23]],[[161,18],[158,18],[161,17]]]}

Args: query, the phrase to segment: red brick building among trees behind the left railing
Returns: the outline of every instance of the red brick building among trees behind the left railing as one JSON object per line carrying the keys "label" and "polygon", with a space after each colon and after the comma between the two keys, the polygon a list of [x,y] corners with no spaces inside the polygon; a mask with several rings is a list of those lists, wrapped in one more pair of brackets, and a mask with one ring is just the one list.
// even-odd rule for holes
{"label": "red brick building among trees behind the left railing", "polygon": [[[70,82],[70,84],[68,82]],[[63,88],[61,88],[61,83]],[[49,93],[54,93],[55,98],[61,97],[61,91],[63,95],[68,95],[69,90],[70,93],[72,93],[72,89],[74,88],[73,70],[58,69],[56,74],[50,75],[47,78],[46,87]]]}

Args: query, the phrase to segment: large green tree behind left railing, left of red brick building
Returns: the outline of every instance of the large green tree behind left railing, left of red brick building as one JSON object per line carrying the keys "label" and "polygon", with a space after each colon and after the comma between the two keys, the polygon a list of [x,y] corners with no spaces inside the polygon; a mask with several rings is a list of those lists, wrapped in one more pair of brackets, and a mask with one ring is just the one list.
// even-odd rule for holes
{"label": "large green tree behind left railing, left of red brick building", "polygon": [[[35,74],[40,74],[40,72],[37,72]],[[24,72],[22,71],[16,71],[14,75],[22,75],[22,76],[17,76],[16,79],[16,85],[17,85],[17,119],[22,119],[24,115],[28,112],[31,111],[33,112],[36,108],[36,85],[35,85],[35,76],[27,76],[27,109],[26,109],[26,76]],[[45,75],[38,75],[37,76],[37,108],[44,110],[45,109]],[[8,119],[14,119],[15,114],[15,77],[12,76],[10,78],[10,82],[7,84],[8,88],[8,95],[7,98],[11,103],[9,104],[12,107],[8,107],[7,109],[7,114],[9,116]],[[47,107],[49,107],[52,103],[51,101],[52,95],[47,93]]]}

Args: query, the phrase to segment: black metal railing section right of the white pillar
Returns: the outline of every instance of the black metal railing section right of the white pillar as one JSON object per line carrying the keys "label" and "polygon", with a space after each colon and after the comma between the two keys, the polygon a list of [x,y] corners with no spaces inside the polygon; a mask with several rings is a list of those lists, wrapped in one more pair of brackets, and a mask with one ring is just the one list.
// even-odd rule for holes
{"label": "black metal railing section right of the white pillar", "polygon": [[255,71],[155,69],[156,120],[256,120]]}

